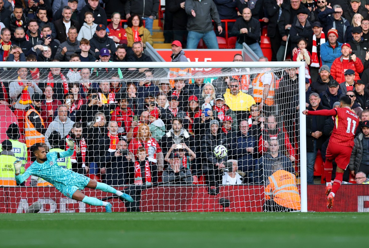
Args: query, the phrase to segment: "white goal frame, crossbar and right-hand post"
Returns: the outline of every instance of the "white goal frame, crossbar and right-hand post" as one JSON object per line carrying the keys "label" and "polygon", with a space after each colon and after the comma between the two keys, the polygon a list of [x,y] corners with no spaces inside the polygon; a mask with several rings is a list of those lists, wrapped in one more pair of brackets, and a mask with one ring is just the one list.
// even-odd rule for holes
{"label": "white goal frame, crossbar and right-hand post", "polygon": [[[98,64],[98,66],[96,66]],[[305,62],[3,62],[3,68],[299,68],[301,212],[307,212]],[[303,103],[303,104],[302,104]]]}

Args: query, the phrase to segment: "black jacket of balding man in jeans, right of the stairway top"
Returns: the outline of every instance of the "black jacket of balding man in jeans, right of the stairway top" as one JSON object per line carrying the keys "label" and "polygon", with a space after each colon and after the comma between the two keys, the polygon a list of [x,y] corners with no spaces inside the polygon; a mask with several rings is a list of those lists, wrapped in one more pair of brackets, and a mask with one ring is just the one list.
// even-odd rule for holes
{"label": "black jacket of balding man in jeans, right of the stairway top", "polygon": [[[247,28],[247,34],[240,34],[239,31],[242,28]],[[247,45],[258,43],[261,35],[260,22],[252,17],[249,21],[245,21],[243,17],[239,17],[233,25],[231,35],[237,36],[237,42],[240,44],[244,42]]]}

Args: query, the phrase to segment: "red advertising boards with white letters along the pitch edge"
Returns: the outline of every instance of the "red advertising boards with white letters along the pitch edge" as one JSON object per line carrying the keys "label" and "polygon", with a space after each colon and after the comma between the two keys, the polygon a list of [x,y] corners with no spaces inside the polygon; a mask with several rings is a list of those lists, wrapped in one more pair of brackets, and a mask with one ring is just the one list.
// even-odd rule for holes
{"label": "red advertising boards with white letters along the pitch edge", "polygon": [[[62,196],[54,187],[3,187],[0,188],[0,213],[24,213],[30,204],[40,201],[41,213],[103,212],[103,207],[85,205],[83,202]],[[119,188],[123,190],[123,187]],[[316,212],[369,212],[368,185],[342,185],[334,198],[333,209],[327,209],[324,196],[325,185],[308,185],[308,211]],[[107,193],[86,189],[87,196],[104,198]],[[161,212],[219,212],[220,198],[231,202],[227,212],[261,212],[264,203],[262,185],[221,186],[216,196],[209,195],[204,186],[162,186],[142,191],[141,211]],[[111,195],[111,194],[109,194]],[[109,200],[114,212],[125,212],[124,203]]]}

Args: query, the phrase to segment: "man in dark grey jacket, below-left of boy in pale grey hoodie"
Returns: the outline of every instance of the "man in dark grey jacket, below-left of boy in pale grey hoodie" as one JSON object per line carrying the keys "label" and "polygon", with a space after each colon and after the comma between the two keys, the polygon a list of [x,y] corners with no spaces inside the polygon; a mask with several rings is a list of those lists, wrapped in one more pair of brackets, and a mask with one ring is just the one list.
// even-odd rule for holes
{"label": "man in dark grey jacket, below-left of boy in pale grey hoodie", "polygon": [[77,28],[70,27],[68,30],[68,38],[65,42],[59,45],[58,50],[56,51],[56,59],[60,61],[70,61],[71,55],[73,53],[80,53],[80,43],[77,40]]}

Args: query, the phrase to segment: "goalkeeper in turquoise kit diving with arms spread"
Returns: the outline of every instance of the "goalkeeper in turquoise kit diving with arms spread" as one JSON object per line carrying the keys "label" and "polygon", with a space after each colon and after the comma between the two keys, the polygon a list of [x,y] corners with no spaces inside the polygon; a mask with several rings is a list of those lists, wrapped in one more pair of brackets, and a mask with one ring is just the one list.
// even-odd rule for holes
{"label": "goalkeeper in turquoise kit diving with arms spread", "polygon": [[117,191],[107,184],[97,182],[84,175],[60,167],[56,160],[58,158],[69,157],[74,151],[74,141],[70,138],[65,140],[69,149],[60,153],[56,151],[47,153],[42,144],[31,146],[31,152],[34,154],[34,157],[36,157],[36,161],[33,162],[22,175],[20,175],[22,162],[20,160],[15,161],[14,168],[16,181],[18,183],[22,183],[30,177],[30,175],[41,177],[45,181],[54,185],[58,191],[63,193],[63,195],[89,205],[104,206],[107,213],[111,213],[110,203],[103,202],[102,200],[94,197],[86,196],[80,190],[86,187],[90,189],[100,189],[101,191],[117,195],[121,200],[133,202],[132,197],[126,193]]}

